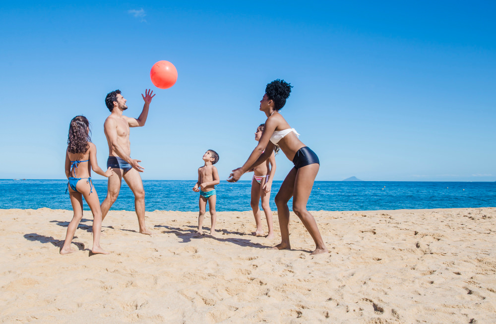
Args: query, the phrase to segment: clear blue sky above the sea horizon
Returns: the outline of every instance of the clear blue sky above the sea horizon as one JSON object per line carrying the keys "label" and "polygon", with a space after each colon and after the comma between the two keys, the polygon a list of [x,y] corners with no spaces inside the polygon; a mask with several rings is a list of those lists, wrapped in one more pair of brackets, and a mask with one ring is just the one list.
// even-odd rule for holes
{"label": "clear blue sky above the sea horizon", "polygon": [[[156,93],[131,130],[143,179],[195,179],[209,148],[227,179],[283,78],[281,112],[319,156],[317,180],[496,180],[495,2],[66,2],[0,2],[0,179],[63,179],[79,114],[104,168],[118,88],[132,117]],[[150,81],[160,60],[178,69],[170,89]],[[283,180],[293,165],[276,161]]]}

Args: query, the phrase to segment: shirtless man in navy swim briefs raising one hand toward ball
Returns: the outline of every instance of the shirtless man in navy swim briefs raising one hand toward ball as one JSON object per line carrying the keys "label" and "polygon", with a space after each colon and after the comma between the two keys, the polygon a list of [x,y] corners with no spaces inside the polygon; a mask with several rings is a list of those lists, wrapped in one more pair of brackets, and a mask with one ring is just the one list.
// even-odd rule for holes
{"label": "shirtless man in navy swim briefs raising one hand toward ball", "polygon": [[147,235],[152,233],[145,226],[145,190],[139,175],[144,168],[138,164],[141,160],[131,159],[130,157],[129,128],[145,125],[150,102],[155,97],[155,95],[152,96],[152,93],[153,91],[146,89],[145,96],[141,94],[145,104],[137,119],[123,115],[127,106],[120,90],[110,92],[105,98],[105,104],[111,112],[104,124],[105,136],[107,136],[109,144],[107,167],[111,167],[114,170],[114,175],[109,177],[107,197],[101,205],[103,220],[112,204],[117,200],[121,191],[121,182],[124,178],[124,181],[134,194],[134,210],[136,211],[136,216],[138,216],[139,232]]}

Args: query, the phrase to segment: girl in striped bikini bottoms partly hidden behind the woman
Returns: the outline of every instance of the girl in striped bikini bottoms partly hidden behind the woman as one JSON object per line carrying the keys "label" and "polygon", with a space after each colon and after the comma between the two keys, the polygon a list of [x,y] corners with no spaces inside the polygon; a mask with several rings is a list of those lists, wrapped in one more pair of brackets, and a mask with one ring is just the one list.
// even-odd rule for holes
{"label": "girl in striped bikini bottoms partly hidden behind the woman", "polygon": [[[262,137],[263,129],[265,124],[258,126],[255,132],[255,140],[259,141]],[[274,151],[277,153],[279,147],[275,147]],[[253,171],[253,178],[251,179],[251,209],[253,209],[253,216],[255,216],[256,230],[251,234],[255,236],[263,236],[264,231],[262,228],[261,213],[258,208],[258,202],[260,198],[262,199],[262,209],[265,213],[265,219],[267,220],[267,226],[269,228],[269,233],[267,234],[267,239],[274,238],[274,231],[272,228],[272,211],[270,210],[270,189],[272,187],[272,180],[274,179],[274,174],[276,173],[276,158],[274,152],[270,154],[270,157],[265,161],[256,166]]]}

